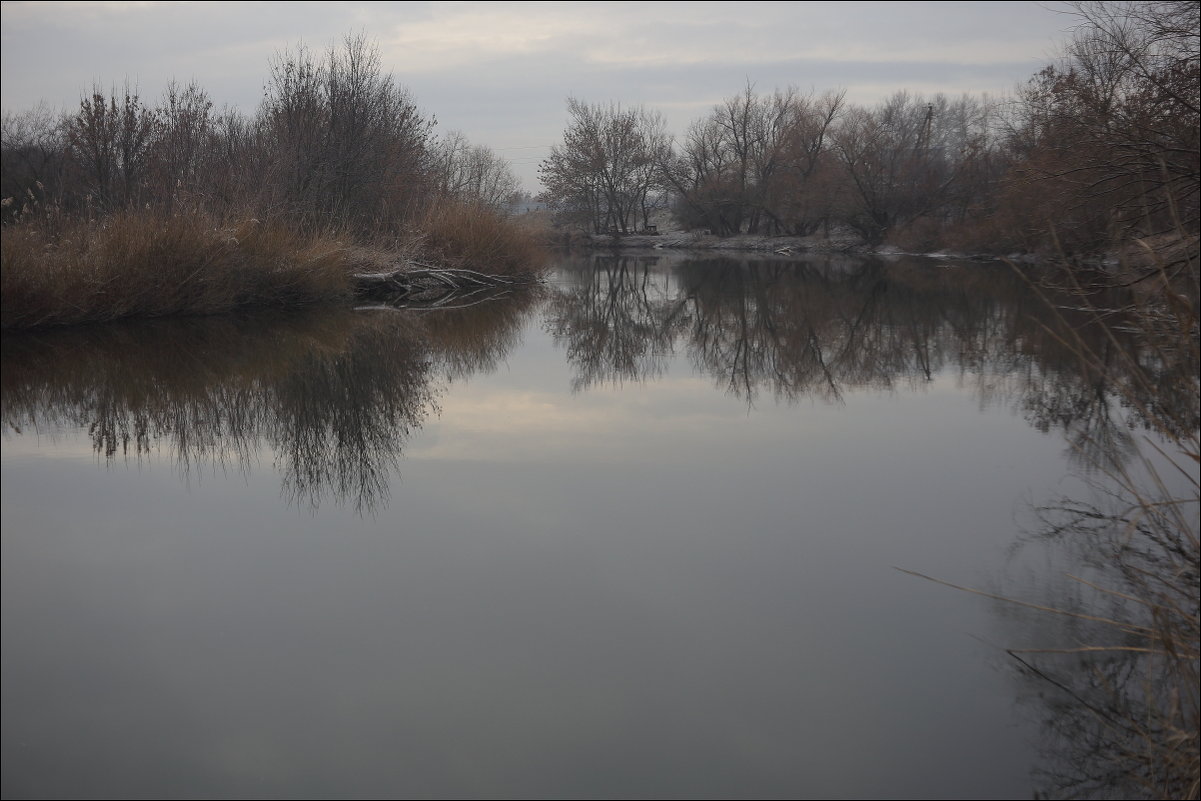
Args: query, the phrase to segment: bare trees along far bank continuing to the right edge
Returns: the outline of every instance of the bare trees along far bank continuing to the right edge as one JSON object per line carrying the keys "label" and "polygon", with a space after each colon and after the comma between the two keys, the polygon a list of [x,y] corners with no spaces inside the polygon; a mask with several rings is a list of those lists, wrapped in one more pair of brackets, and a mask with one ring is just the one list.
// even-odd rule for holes
{"label": "bare trees along far bank continuing to the right edge", "polygon": [[[1080,4],[1059,64],[1015,97],[737,95],[669,137],[643,108],[568,101],[542,165],[560,222],[1070,252],[1197,231],[1199,4]],[[641,211],[641,216],[632,214]]]}

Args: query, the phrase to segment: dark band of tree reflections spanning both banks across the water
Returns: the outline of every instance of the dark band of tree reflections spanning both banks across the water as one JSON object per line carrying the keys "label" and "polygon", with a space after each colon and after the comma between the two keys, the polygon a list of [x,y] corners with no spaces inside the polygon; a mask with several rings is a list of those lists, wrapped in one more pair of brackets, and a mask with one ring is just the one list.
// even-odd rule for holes
{"label": "dark band of tree reflections spanning both banks across the water", "polygon": [[[1050,309],[1005,267],[662,261],[581,259],[548,293],[545,325],[574,391],[651,381],[677,353],[751,405],[765,394],[836,402],[951,371],[981,402],[1066,432],[1081,465],[1128,456],[1128,426],[1152,405],[1117,407],[1121,376],[1082,370],[1065,331],[1095,329],[1100,352],[1133,341],[1113,340],[1075,301]],[[405,441],[436,413],[446,379],[494,370],[534,303],[10,334],[4,424],[86,428],[106,460],[166,449],[185,476],[245,471],[268,447],[291,501],[369,510],[387,501]]]}

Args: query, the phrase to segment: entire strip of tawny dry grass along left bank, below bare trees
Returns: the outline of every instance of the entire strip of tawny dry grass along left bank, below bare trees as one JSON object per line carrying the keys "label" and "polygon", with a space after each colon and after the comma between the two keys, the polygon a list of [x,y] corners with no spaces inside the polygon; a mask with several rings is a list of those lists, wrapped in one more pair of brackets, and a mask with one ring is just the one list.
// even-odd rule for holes
{"label": "entire strip of tawny dry grass along left bank, below bare trees", "polygon": [[509,220],[449,201],[431,209],[414,234],[387,244],[303,233],[281,221],[124,210],[101,220],[5,226],[0,324],[345,303],[354,274],[394,270],[414,258],[503,275],[532,275],[543,264],[532,238]]}

